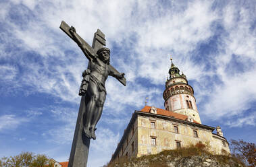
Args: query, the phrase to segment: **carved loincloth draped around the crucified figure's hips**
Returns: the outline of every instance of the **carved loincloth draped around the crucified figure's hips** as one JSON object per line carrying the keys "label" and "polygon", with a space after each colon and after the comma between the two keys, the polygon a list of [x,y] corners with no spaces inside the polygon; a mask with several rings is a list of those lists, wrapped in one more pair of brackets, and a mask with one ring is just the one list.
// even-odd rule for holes
{"label": "carved loincloth draped around the crucified figure's hips", "polygon": [[105,94],[107,94],[104,84],[101,81],[99,81],[94,75],[88,74],[82,78],[82,83],[79,90],[79,96],[84,96],[86,94],[90,80],[96,84],[99,92],[105,92]]}

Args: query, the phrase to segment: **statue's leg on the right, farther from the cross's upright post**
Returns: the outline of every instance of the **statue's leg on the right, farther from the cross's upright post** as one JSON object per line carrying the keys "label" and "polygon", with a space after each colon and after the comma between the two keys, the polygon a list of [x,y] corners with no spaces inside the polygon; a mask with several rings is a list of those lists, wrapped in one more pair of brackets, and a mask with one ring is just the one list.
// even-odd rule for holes
{"label": "statue's leg on the right, farther from the cross's upright post", "polygon": [[93,139],[96,139],[96,135],[95,135],[95,130],[96,130],[96,125],[99,121],[99,119],[101,118],[101,114],[102,114],[102,110],[103,110],[103,104],[105,102],[106,99],[106,93],[105,92],[99,92],[99,101],[96,102],[96,110],[95,112],[93,112],[93,120],[91,123],[91,134]]}

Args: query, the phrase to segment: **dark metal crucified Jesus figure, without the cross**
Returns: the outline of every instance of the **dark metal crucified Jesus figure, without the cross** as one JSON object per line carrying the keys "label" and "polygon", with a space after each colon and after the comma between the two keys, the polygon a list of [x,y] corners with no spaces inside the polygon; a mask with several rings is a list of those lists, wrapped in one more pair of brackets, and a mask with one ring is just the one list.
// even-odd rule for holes
{"label": "dark metal crucified Jesus figure, without the cross", "polygon": [[124,73],[119,73],[109,65],[109,48],[99,48],[96,54],[92,54],[88,52],[87,46],[80,40],[73,26],[71,26],[69,31],[89,61],[88,68],[82,73],[83,79],[79,95],[86,97],[86,112],[83,115],[84,135],[89,139],[96,139],[96,125],[101,118],[103,104],[107,94],[105,81],[108,75],[116,77],[116,79],[123,79]]}

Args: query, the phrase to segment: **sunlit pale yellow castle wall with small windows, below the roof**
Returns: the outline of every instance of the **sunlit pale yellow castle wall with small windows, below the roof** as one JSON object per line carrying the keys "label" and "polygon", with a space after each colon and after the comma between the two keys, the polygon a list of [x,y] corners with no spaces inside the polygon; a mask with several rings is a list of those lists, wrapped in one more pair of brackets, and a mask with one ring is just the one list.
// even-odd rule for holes
{"label": "sunlit pale yellow castle wall with small windows, below the roof", "polygon": [[[165,149],[176,149],[178,143],[181,147],[186,147],[199,142],[207,143],[210,146],[209,151],[213,154],[230,153],[228,142],[224,137],[215,135],[210,130],[201,127],[149,116],[138,116],[137,123],[137,156],[157,154]],[[151,126],[152,123],[155,123],[155,128]],[[176,127],[178,132],[175,129]],[[151,143],[152,138],[155,138],[155,145]]]}

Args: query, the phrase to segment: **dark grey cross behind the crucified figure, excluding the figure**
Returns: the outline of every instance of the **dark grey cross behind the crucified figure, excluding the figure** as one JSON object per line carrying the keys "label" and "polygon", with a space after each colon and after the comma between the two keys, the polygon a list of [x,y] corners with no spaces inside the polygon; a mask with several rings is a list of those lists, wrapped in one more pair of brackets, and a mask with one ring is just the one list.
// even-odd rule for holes
{"label": "dark grey cross behind the crucified figure, excluding the figure", "polygon": [[[72,40],[75,42],[76,39],[70,34],[70,26],[66,24],[66,22],[62,21],[61,25],[59,26],[63,32],[65,32]],[[78,34],[76,34],[78,40],[82,42],[82,45],[85,47],[86,52],[90,55],[95,55],[99,48],[103,48],[105,46],[105,34],[101,32],[101,30],[97,30],[95,32],[94,38],[93,38],[93,44],[90,46],[86,41],[84,41]],[[84,51],[83,51],[84,52]],[[86,54],[85,54],[86,55]],[[112,71],[117,71],[113,66],[109,65],[109,68],[111,68]],[[117,71],[117,73],[119,73]],[[124,77],[117,78],[124,86],[126,85],[126,79]],[[79,112],[78,112],[78,118],[76,121],[76,129],[74,133],[74,138],[72,142],[72,149],[70,152],[70,159],[68,163],[68,167],[85,167],[88,160],[88,150],[90,146],[90,138],[86,137],[83,132],[83,115],[84,112],[86,112],[86,96],[82,96]]]}

